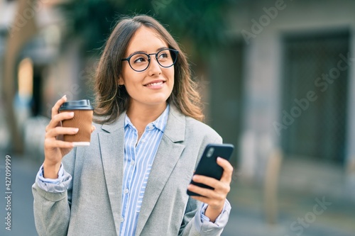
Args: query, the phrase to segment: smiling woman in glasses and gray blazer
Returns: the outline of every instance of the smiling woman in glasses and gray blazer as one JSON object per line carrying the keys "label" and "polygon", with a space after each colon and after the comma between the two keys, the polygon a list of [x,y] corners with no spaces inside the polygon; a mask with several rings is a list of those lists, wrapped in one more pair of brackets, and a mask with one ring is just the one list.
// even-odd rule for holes
{"label": "smiling woman in glasses and gray blazer", "polygon": [[[220,235],[233,168],[220,181],[194,176],[208,143],[222,138],[204,123],[185,55],[149,16],[124,18],[104,48],[89,147],[60,137],[72,113],[52,109],[45,160],[33,184],[39,235]],[[65,157],[64,157],[65,156]],[[64,157],[64,158],[62,158]],[[187,188],[202,196],[187,196]]]}

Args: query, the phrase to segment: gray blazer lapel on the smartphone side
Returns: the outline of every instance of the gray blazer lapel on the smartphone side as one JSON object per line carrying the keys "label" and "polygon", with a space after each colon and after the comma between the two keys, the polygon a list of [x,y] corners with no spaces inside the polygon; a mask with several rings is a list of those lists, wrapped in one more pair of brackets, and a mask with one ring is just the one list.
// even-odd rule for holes
{"label": "gray blazer lapel on the smartphone side", "polygon": [[168,122],[164,135],[155,155],[151,174],[149,174],[146,191],[138,217],[136,235],[141,235],[144,225],[158,201],[160,193],[178,162],[185,145],[180,144],[185,139],[185,116],[174,106],[170,106]]}

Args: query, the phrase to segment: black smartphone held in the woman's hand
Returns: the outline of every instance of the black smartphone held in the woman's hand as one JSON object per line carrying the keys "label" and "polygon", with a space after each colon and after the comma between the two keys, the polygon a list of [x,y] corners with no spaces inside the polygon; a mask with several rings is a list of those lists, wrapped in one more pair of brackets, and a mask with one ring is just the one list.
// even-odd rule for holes
{"label": "black smartphone held in the woman's hand", "polygon": [[[219,165],[217,164],[217,157],[222,157],[224,159],[229,160],[233,150],[234,150],[234,145],[226,144],[226,143],[207,145],[207,147],[204,149],[199,164],[197,164],[197,168],[194,174],[209,176],[218,180],[221,179],[223,174],[223,168],[219,167]],[[194,184],[196,186],[200,186],[206,189],[213,189],[210,186],[207,186],[205,184],[195,183],[195,181],[192,180],[190,184]],[[200,196],[200,194],[194,193],[189,190],[187,190],[187,194],[189,196]]]}

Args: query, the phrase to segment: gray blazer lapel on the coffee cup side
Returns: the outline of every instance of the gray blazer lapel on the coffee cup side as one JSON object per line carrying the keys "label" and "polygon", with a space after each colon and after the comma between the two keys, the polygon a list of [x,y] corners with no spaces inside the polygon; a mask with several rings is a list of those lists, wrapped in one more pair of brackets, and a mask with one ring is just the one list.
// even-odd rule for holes
{"label": "gray blazer lapel on the coffee cup side", "polygon": [[106,132],[99,132],[102,165],[116,226],[116,235],[119,235],[121,222],[121,197],[124,176],[124,118],[125,113],[122,113],[115,123],[102,125],[102,130]]}

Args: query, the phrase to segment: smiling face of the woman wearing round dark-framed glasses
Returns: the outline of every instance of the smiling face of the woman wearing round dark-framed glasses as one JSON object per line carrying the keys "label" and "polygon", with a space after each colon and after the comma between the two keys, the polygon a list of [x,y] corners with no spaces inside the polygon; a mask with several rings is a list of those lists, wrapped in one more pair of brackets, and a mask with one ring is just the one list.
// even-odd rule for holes
{"label": "smiling face of the woman wearing round dark-framed glasses", "polygon": [[[131,38],[125,57],[130,57],[136,52],[156,53],[164,48],[168,48],[168,45],[160,38],[160,35],[154,30],[142,26]],[[166,55],[160,55],[162,60],[164,57]],[[139,68],[140,63],[144,61],[144,58],[133,57],[131,65]],[[126,86],[126,90],[131,96],[130,106],[156,106],[166,103],[173,91],[174,66],[161,67],[155,55],[151,55],[151,62],[143,72],[133,70],[128,61],[121,63],[122,72],[119,77],[119,85]]]}

